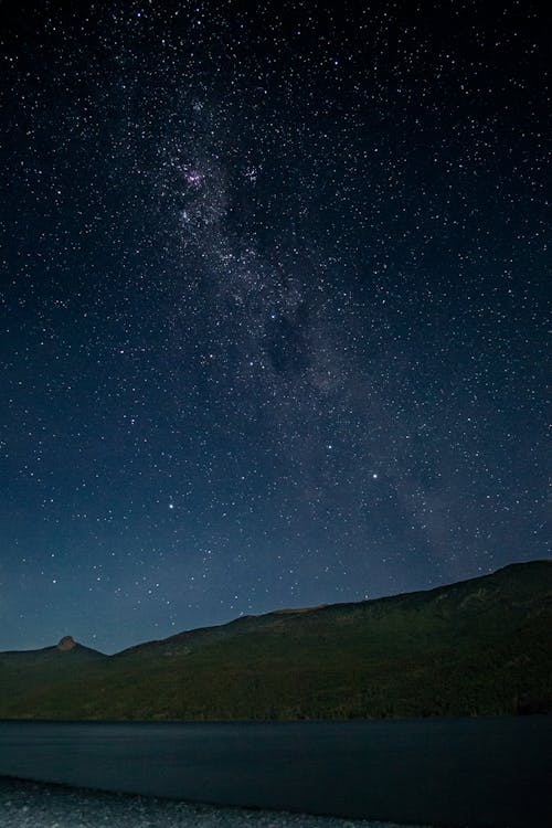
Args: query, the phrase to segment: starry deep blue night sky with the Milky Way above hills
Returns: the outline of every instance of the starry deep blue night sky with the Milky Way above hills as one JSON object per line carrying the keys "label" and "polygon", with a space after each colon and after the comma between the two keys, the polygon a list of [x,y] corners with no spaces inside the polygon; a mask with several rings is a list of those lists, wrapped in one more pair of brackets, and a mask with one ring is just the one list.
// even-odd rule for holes
{"label": "starry deep blue night sky with the Milky Way above hills", "polygon": [[497,8],[2,2],[0,649],[546,555],[550,35]]}

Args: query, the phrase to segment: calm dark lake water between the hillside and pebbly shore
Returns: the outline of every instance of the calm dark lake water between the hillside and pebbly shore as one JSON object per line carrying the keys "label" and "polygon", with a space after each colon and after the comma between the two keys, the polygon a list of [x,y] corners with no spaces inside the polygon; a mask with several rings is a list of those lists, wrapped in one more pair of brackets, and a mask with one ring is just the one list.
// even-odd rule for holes
{"label": "calm dark lake water between the hillside and pebbly shore", "polygon": [[552,716],[0,722],[0,775],[220,805],[449,826],[552,825]]}

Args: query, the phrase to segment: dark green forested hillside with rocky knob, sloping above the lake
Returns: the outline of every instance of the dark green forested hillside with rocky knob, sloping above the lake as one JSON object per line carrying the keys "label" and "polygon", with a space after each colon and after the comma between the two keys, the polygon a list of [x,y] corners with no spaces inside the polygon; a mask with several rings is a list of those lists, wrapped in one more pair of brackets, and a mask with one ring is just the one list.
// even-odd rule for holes
{"label": "dark green forested hillside with rocky knob, sloping above the lake", "polygon": [[427,592],[245,616],[114,656],[71,637],[2,652],[0,716],[550,713],[551,629],[552,562],[512,564]]}

